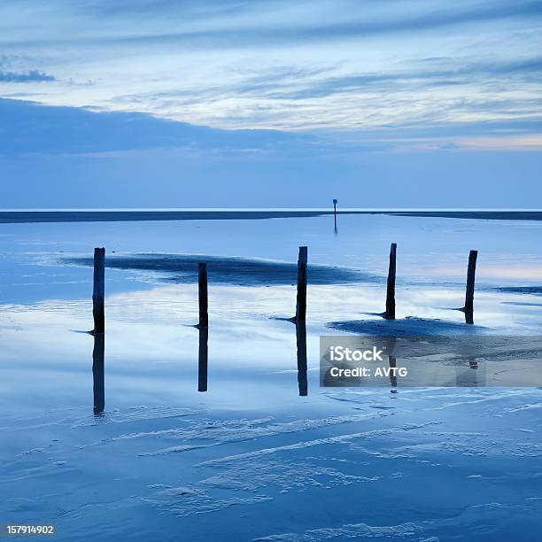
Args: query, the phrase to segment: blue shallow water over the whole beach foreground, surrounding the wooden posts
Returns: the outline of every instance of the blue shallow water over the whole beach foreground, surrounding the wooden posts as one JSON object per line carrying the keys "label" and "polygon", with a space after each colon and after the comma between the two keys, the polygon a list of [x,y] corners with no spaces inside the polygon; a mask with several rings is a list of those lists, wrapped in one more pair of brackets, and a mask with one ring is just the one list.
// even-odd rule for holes
{"label": "blue shallow water over the whole beach foreground, surrounding the wooden posts", "polygon": [[[339,216],[337,235],[330,217],[0,225],[4,523],[57,523],[70,540],[533,539],[542,391],[321,389],[318,348],[341,333],[330,322],[390,323],[375,313],[391,242],[393,325],[542,334],[541,228],[385,215]],[[296,328],[280,320],[294,312],[287,264],[300,244],[309,275],[320,264],[361,277],[309,287],[306,397]],[[73,261],[94,246],[274,260],[255,283],[213,283],[210,267],[208,391],[197,391],[196,283],[108,269],[105,412],[93,414],[92,270]],[[470,249],[475,326],[452,310]]]}

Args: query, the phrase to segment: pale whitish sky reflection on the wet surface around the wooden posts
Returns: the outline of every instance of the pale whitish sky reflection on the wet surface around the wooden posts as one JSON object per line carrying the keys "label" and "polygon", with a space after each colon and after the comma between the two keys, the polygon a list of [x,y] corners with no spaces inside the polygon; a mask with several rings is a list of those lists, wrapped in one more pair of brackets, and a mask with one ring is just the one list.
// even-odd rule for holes
{"label": "pale whitish sky reflection on the wet surface around the wooden posts", "polygon": [[[356,290],[351,295],[352,290]],[[423,314],[449,321],[461,332],[535,333],[538,307],[502,305],[508,294],[484,293],[475,328],[463,315],[445,308],[461,301],[442,290],[407,290],[399,297],[398,316]],[[416,298],[422,296],[422,303]],[[197,289],[186,284],[154,287],[107,298],[105,341],[106,404],[224,402],[237,408],[292,404],[297,398],[295,326],[275,318],[293,313],[295,289],[211,286],[209,391],[197,394]],[[318,337],[338,333],[329,321],[372,319],[364,314],[382,306],[383,291],[362,286],[314,286],[307,318],[309,393],[318,393]],[[501,309],[500,307],[503,307]],[[499,311],[499,312],[498,312]],[[508,313],[507,311],[510,311]],[[515,324],[510,325],[510,320]],[[77,332],[91,327],[91,302],[45,301],[35,306],[4,306],[0,315],[4,407],[26,397],[25,407],[86,404],[90,400],[92,337]],[[480,328],[478,328],[480,326]],[[384,328],[385,329],[385,328]],[[456,329],[427,327],[427,332]],[[539,332],[539,331],[538,331]],[[36,379],[37,374],[43,378]],[[5,412],[5,409],[4,409]]]}

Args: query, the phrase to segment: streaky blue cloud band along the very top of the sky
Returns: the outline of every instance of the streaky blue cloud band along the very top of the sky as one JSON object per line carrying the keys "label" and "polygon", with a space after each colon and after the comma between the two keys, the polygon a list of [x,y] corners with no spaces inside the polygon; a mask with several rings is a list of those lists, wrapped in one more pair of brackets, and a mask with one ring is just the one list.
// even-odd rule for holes
{"label": "streaky blue cloud band along the very top of the sky", "polygon": [[[291,3],[290,3],[291,4]],[[364,5],[365,12],[360,10],[360,2],[342,2],[337,0],[336,13],[342,12],[348,17],[345,20],[331,18],[325,23],[314,18],[319,9],[325,12],[326,3],[301,3],[298,10],[288,12],[285,7],[289,3],[269,3],[265,0],[257,2],[241,2],[229,0],[213,2],[206,0],[174,3],[161,0],[154,4],[147,0],[138,2],[122,1],[120,3],[94,2],[90,5],[74,4],[67,10],[72,16],[88,15],[89,19],[101,20],[112,17],[122,20],[126,17],[159,19],[166,23],[155,25],[138,25],[138,30],[114,29],[105,34],[67,33],[66,37],[58,34],[48,37],[25,37],[21,40],[4,40],[6,46],[23,45],[62,45],[64,43],[111,45],[151,45],[169,44],[171,46],[188,46],[190,48],[237,49],[253,46],[275,45],[286,47],[295,43],[329,42],[364,38],[377,35],[394,35],[403,33],[419,33],[423,31],[441,30],[447,27],[458,27],[473,23],[493,23],[499,20],[542,18],[542,2],[540,0],[493,0],[484,2],[457,2],[437,8],[434,4],[414,2],[405,8],[404,2],[383,2],[382,9]],[[366,3],[362,3],[366,4]],[[389,9],[393,8],[393,9]],[[281,13],[283,12],[283,14]],[[290,15],[290,18],[289,18]],[[296,17],[294,18],[293,15]],[[168,19],[164,19],[168,17]],[[237,17],[237,18],[236,18]],[[191,27],[186,22],[197,19]],[[266,24],[266,19],[272,21]],[[181,32],[160,31],[163,27],[172,27],[174,22],[182,22]],[[113,26],[113,28],[115,28]],[[139,30],[142,28],[144,31]]]}

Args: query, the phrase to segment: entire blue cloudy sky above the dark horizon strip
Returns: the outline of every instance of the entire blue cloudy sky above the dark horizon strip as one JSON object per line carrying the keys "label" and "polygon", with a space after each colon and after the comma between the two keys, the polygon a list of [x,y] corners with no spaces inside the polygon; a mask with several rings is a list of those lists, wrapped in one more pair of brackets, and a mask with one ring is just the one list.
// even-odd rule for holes
{"label": "entire blue cloudy sky above the dark horizon strip", "polygon": [[533,207],[542,0],[1,2],[0,114],[2,207]]}

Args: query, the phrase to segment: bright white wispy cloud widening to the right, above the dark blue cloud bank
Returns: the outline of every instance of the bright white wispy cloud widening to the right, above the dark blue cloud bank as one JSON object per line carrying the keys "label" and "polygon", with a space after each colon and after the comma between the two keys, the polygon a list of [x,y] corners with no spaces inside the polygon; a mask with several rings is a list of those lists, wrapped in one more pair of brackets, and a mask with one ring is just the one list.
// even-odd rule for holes
{"label": "bright white wispy cloud widening to the right, above the dark blue cloud bank", "polygon": [[368,130],[542,117],[542,57],[421,58],[361,73],[341,71],[345,67],[324,63],[315,69],[262,68],[232,81],[181,88],[174,82],[171,89],[119,94],[105,106],[215,126],[216,119],[226,119],[218,124],[223,128]]}

